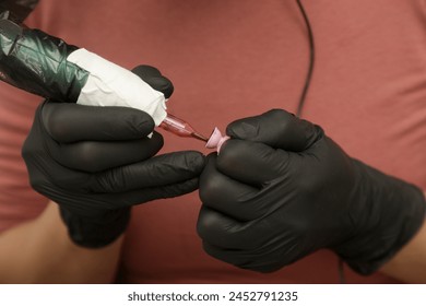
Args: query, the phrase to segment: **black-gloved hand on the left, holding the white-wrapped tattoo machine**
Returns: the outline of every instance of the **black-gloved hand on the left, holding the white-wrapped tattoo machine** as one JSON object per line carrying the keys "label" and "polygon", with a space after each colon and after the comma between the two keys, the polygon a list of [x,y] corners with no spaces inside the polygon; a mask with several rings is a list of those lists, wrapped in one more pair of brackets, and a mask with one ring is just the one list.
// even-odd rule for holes
{"label": "black-gloved hand on the left, holding the white-wrapped tattoo machine", "polygon": [[[156,69],[138,69],[171,94]],[[23,157],[33,188],[59,204],[75,244],[108,245],[126,231],[131,205],[197,189],[203,155],[154,156],[163,138],[153,129],[150,115],[128,107],[47,101],[37,108]]]}

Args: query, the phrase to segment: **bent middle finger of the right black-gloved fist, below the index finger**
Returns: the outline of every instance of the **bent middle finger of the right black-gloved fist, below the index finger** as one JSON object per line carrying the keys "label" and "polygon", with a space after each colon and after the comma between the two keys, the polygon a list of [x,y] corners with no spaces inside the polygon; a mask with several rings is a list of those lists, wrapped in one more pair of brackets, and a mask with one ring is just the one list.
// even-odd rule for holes
{"label": "bent middle finger of the right black-gloved fist, below the index finger", "polygon": [[200,176],[199,192],[203,204],[238,221],[250,221],[267,214],[271,205],[262,201],[263,191],[222,174],[216,168],[216,155],[209,155]]}

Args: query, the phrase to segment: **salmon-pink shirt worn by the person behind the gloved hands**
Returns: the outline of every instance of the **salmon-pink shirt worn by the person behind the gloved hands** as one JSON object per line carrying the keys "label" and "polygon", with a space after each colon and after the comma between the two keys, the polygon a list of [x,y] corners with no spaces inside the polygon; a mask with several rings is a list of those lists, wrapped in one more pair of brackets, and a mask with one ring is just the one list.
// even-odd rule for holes
{"label": "salmon-pink shirt worn by the person behind the gloved hands", "polygon": [[[426,189],[424,0],[303,1],[317,62],[304,117],[352,156]],[[308,67],[306,27],[289,0],[42,0],[27,21],[128,69],[149,63],[175,84],[169,110],[202,133],[271,108],[295,111]],[[36,216],[22,142],[40,99],[0,84],[0,228]],[[201,150],[163,132],[163,152]],[[198,193],[133,210],[120,282],[334,283],[338,259],[318,251],[272,274],[206,256],[196,234]],[[348,282],[388,283],[375,274]]]}

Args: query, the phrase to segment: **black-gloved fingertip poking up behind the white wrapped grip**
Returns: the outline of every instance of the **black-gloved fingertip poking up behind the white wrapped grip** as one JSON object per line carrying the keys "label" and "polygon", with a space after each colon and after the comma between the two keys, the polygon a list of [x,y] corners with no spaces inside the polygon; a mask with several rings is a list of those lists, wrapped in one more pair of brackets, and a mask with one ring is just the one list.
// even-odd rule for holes
{"label": "black-gloved fingertip poking up behind the white wrapped grip", "polygon": [[174,92],[173,83],[155,67],[141,64],[133,68],[132,72],[145,81],[151,87],[162,92],[165,98],[169,98],[171,96]]}

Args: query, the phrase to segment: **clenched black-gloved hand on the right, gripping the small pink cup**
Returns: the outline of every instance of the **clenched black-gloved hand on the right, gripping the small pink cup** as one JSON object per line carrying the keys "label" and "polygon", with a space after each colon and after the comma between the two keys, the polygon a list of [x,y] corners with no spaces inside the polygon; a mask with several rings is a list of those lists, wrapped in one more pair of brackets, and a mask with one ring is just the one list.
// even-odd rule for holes
{"label": "clenched black-gloved hand on the right, gripping the small pink cup", "polygon": [[284,110],[227,127],[200,178],[198,233],[211,256],[270,272],[321,248],[376,271],[425,217],[422,191],[351,158]]}

